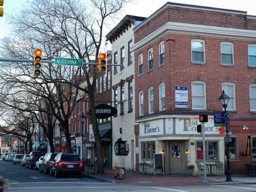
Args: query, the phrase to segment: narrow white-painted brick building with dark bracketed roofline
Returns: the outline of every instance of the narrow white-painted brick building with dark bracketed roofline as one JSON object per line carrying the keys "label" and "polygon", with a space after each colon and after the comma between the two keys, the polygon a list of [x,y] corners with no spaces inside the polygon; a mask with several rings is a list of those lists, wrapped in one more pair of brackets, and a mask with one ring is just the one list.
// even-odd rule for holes
{"label": "narrow white-painted brick building with dark bracketed roofline", "polygon": [[[136,164],[136,141],[134,134],[135,105],[134,105],[134,56],[131,47],[134,45],[133,28],[140,24],[145,17],[126,15],[106,38],[111,42],[113,54],[112,63],[120,64],[112,70],[112,100],[118,113],[112,117],[113,129],[113,163],[134,170]],[[116,156],[115,142],[122,139],[127,141],[127,156]],[[138,147],[137,147],[138,149]],[[138,150],[137,150],[138,151]]]}

